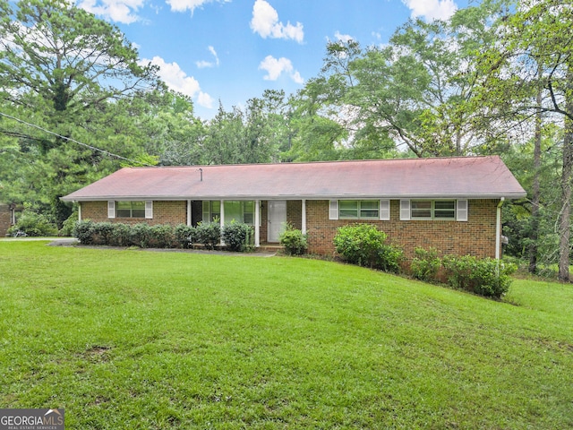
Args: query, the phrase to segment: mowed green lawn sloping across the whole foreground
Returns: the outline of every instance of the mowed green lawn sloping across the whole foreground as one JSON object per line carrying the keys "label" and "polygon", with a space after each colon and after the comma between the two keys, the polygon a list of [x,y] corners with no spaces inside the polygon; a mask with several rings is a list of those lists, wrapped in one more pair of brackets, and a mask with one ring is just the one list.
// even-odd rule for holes
{"label": "mowed green lawn sloping across the whole foreground", "polygon": [[573,428],[573,287],[0,241],[0,407],[66,429]]}

